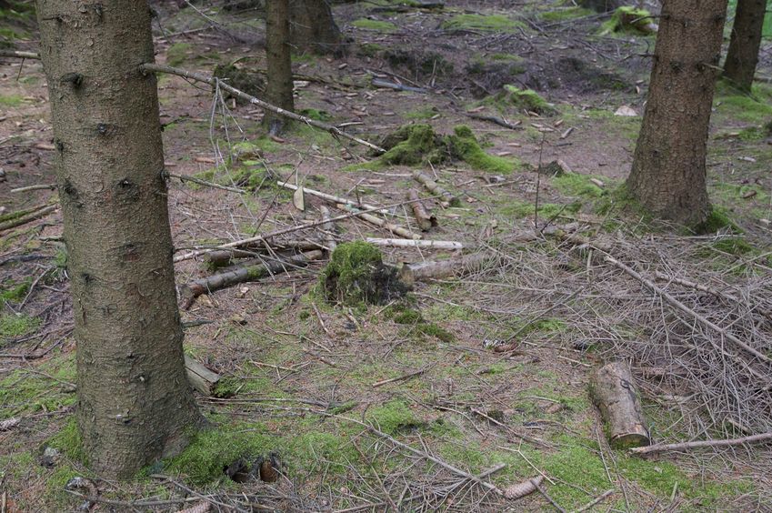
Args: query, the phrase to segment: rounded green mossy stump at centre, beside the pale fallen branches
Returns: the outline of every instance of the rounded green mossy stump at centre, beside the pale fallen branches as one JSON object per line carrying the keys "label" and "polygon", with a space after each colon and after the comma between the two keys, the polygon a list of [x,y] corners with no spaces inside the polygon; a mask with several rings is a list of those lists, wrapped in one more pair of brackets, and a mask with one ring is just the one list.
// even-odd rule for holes
{"label": "rounded green mossy stump at centre, beside the pale fallen branches", "polygon": [[327,301],[348,307],[383,305],[406,293],[380,250],[362,241],[336,247],[319,277],[319,288]]}

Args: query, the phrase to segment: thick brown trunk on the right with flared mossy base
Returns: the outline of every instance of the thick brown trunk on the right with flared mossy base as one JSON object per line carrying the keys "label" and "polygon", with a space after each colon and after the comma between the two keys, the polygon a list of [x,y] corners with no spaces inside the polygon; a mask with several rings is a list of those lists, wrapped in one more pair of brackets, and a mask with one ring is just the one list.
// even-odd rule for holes
{"label": "thick brown trunk on the right with flared mossy base", "polygon": [[666,1],[628,190],[656,216],[698,226],[710,212],[706,141],[727,0]]}

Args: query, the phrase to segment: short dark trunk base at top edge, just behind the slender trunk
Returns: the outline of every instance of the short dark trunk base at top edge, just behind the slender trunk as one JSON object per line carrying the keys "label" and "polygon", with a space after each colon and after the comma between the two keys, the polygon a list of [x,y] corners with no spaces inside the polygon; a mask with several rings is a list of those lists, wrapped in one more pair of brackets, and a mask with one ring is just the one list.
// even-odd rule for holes
{"label": "short dark trunk base at top edge, just behind the slender trunk", "polygon": [[292,44],[298,50],[318,54],[340,52],[340,29],[326,0],[290,0],[290,19]]}

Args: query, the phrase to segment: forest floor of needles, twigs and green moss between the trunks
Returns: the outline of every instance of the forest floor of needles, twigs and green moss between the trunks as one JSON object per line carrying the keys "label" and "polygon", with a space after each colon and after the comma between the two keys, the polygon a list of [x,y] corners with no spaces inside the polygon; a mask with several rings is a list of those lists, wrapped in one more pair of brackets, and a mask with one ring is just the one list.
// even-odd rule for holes
{"label": "forest floor of needles, twigs and green moss between the trunks", "polygon": [[[255,12],[205,11],[159,8],[158,62],[211,73],[238,59],[265,70]],[[560,2],[427,10],[376,0],[338,5],[335,15],[347,52],[296,55],[296,107],[375,143],[410,123],[439,134],[471,127],[496,158],[420,166],[461,198],[461,206],[426,199],[438,226],[422,235],[496,255],[495,265],[419,283],[401,309],[327,304],[316,292],[324,261],[198,297],[183,311],[185,350],[223,376],[218,397],[198,396],[213,428],[135,482],[115,483],[90,473],[78,450],[61,214],[0,233],[5,511],[75,510],[84,503],[76,494],[97,493],[100,502],[83,510],[575,510],[599,498],[594,508],[604,511],[772,511],[769,446],[632,456],[608,446],[587,387],[602,363],[629,361],[657,442],[772,427],[768,387],[759,391],[737,365],[737,347],[721,349],[721,334],[698,320],[772,354],[770,40],[752,95],[718,85],[708,140],[718,223],[696,235],[636,214],[614,193],[632,162],[654,35],[599,35],[607,18]],[[35,49],[35,35],[26,38],[18,47]],[[374,76],[426,92],[376,88]],[[546,101],[496,96],[504,85]],[[323,200],[306,195],[300,211],[277,179],[379,206],[421,189],[413,167],[374,165],[363,146],[310,126],[268,137],[258,109],[208,86],[164,75],[159,95],[167,170],[248,189],[172,179],[177,255],[320,219]],[[39,63],[0,59],[0,106],[5,214],[55,204],[49,189],[11,192],[55,181]],[[637,116],[615,116],[620,106]],[[557,159],[573,172],[536,172]],[[391,212],[420,231],[408,206]],[[339,242],[366,236],[393,235],[356,219],[336,223]],[[283,240],[320,233],[272,242]],[[384,248],[394,264],[455,256]],[[176,272],[180,286],[211,274],[198,259]],[[224,472],[270,454],[276,483],[236,483]],[[542,493],[503,498],[438,462],[501,489],[542,477]],[[78,476],[95,488],[65,490]]]}

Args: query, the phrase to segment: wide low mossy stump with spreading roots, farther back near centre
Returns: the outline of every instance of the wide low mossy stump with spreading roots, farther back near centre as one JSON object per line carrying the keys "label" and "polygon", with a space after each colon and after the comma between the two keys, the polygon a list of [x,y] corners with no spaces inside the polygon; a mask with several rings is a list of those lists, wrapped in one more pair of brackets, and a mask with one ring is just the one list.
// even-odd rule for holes
{"label": "wide low mossy stump with spreading roots, farther back near centre", "polygon": [[420,166],[463,161],[474,169],[492,173],[510,173],[515,163],[486,154],[472,129],[456,126],[453,134],[440,136],[429,125],[400,126],[381,142],[387,151],[379,162],[386,165]]}

